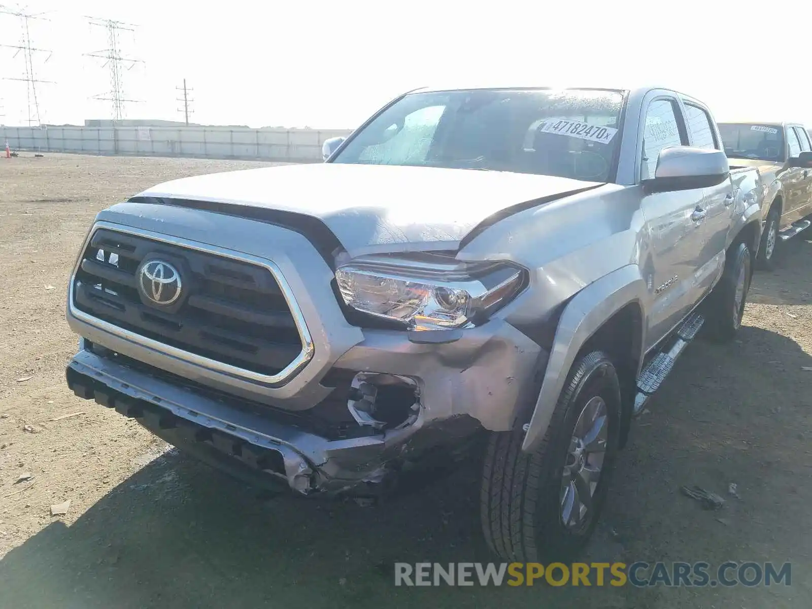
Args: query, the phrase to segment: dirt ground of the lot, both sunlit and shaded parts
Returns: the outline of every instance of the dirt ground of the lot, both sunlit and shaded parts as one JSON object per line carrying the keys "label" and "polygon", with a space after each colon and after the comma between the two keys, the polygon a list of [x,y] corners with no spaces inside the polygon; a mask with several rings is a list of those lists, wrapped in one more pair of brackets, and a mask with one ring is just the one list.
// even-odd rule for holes
{"label": "dirt ground of the lot, both sunlit and shaded parts", "polygon": [[[812,607],[812,244],[802,238],[779,271],[756,274],[739,339],[693,343],[651,400],[586,556],[790,561],[790,586],[396,588],[395,561],[490,559],[473,469],[374,508],[269,499],[72,395],[66,287],[93,214],[166,179],[257,165],[0,158],[2,609]],[[31,480],[16,482],[22,474]],[[727,502],[704,511],[680,495],[686,484]],[[50,515],[67,500],[67,515]]]}

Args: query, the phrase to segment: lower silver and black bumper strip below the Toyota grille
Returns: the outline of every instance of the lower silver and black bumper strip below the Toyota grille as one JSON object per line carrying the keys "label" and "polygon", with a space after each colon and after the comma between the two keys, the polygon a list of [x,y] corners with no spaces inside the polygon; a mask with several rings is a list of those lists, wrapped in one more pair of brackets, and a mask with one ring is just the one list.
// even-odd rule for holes
{"label": "lower silver and black bumper strip below the Toyota grille", "polygon": [[400,429],[329,439],[191,393],[89,348],[73,357],[66,375],[76,395],[135,418],[200,460],[256,486],[289,486],[302,495],[372,488],[365,483],[382,489],[393,477],[391,464],[404,454],[421,445],[453,445],[455,438],[468,438],[479,427],[472,417],[426,421],[418,411]]}

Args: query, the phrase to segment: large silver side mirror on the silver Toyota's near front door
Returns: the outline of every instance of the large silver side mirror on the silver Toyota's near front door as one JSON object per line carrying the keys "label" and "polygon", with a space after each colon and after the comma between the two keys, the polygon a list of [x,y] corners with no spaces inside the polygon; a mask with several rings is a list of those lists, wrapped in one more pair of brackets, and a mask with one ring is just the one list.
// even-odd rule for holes
{"label": "large silver side mirror on the silver Toyota's near front door", "polygon": [[721,150],[673,146],[660,150],[654,179],[643,180],[647,192],[709,188],[730,175],[728,157]]}

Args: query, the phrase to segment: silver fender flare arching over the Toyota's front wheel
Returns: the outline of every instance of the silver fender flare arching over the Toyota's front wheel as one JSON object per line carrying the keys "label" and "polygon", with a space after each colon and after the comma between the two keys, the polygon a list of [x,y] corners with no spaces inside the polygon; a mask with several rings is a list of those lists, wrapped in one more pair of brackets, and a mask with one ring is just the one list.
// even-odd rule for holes
{"label": "silver fender flare arching over the Toyota's front wheel", "polygon": [[[627,304],[637,302],[645,312],[644,304],[648,297],[648,286],[637,265],[612,271],[573,296],[561,313],[555,330],[544,380],[521,446],[522,451],[532,452],[542,442],[569,370],[586,341]],[[645,324],[642,331],[641,349],[646,344]],[[639,355],[642,356],[642,353]],[[642,361],[642,357],[638,361]],[[636,372],[639,373],[639,370]]]}

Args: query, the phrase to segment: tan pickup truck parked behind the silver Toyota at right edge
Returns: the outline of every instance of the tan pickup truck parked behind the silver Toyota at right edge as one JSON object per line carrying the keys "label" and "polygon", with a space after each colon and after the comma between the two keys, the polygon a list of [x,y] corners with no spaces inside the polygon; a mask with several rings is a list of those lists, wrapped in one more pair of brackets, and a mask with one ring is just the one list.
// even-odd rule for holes
{"label": "tan pickup truck parked behind the silver Toyota at right edge", "polygon": [[778,245],[812,226],[812,145],[794,123],[719,123],[734,166],[758,167],[764,188],[764,229],[758,265],[771,269]]}

